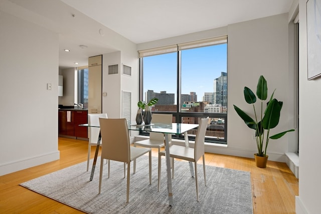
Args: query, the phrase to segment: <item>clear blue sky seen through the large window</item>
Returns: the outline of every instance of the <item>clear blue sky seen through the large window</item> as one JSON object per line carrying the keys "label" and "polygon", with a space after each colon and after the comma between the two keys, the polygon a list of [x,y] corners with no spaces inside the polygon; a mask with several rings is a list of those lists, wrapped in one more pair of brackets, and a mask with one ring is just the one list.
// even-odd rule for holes
{"label": "clear blue sky seen through the large window", "polygon": [[[202,101],[205,92],[213,93],[214,79],[227,72],[227,44],[183,50],[181,65],[182,94],[196,92],[198,101]],[[176,94],[176,86],[176,52],[143,58],[143,92]]]}

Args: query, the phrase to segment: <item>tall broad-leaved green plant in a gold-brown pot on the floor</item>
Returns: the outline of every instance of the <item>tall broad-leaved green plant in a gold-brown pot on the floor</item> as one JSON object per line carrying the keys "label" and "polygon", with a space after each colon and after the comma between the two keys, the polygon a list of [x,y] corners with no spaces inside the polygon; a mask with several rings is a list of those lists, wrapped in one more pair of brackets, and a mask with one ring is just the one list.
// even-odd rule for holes
{"label": "tall broad-leaved green plant in a gold-brown pot on the floor", "polygon": [[[257,145],[257,153],[254,154],[256,165],[261,168],[266,167],[266,162],[268,155],[266,155],[267,146],[270,139],[278,139],[282,137],[284,134],[290,131],[294,131],[294,129],[290,129],[287,131],[280,132],[278,134],[274,134],[273,136],[269,136],[270,129],[277,126],[280,119],[280,112],[283,105],[283,102],[278,101],[273,98],[275,89],[267,102],[267,106],[263,111],[263,100],[267,98],[267,82],[263,76],[259,77],[259,81],[257,83],[256,95],[257,98],[261,100],[261,111],[258,112],[255,109],[254,103],[256,102],[256,96],[248,87],[244,87],[244,98],[248,104],[253,105],[254,116],[252,119],[247,113],[241,110],[236,105],[234,106],[237,114],[244,120],[245,124],[255,130],[255,139]],[[259,159],[263,159],[263,162],[258,162]]]}

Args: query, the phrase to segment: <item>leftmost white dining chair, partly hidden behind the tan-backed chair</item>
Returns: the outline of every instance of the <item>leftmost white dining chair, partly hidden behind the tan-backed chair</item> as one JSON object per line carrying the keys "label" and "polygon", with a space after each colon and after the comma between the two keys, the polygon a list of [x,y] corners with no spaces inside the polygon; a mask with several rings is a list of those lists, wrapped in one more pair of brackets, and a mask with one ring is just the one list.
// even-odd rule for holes
{"label": "leftmost white dining chair, partly hidden behind the tan-backed chair", "polygon": [[[100,131],[99,118],[107,118],[107,113],[88,114],[89,141],[88,141],[87,171],[89,169],[91,146],[97,146],[97,140],[98,140],[99,131]],[[98,126],[98,127],[90,127],[90,125]],[[100,140],[100,146],[101,145],[102,145],[102,139]]]}

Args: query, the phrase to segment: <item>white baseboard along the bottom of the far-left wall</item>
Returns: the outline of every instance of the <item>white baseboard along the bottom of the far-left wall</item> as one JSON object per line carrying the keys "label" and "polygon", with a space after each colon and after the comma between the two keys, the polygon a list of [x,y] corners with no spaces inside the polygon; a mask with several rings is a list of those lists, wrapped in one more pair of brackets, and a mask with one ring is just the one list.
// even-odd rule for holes
{"label": "white baseboard along the bottom of the far-left wall", "polygon": [[54,160],[59,160],[60,151],[44,154],[41,156],[29,157],[27,159],[17,160],[15,162],[5,163],[0,165],[0,176],[27,169],[40,164],[48,163]]}

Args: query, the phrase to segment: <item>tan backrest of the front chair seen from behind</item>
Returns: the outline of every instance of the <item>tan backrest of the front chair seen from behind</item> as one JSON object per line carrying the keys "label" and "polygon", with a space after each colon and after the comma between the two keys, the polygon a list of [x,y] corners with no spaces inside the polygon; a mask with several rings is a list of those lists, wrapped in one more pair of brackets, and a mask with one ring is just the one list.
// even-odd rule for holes
{"label": "tan backrest of the front chair seen from behind", "polygon": [[130,143],[125,118],[99,118],[100,133],[104,139],[101,148],[101,157],[108,160],[130,162]]}

